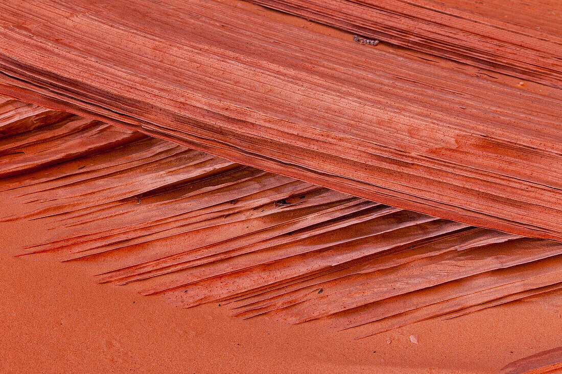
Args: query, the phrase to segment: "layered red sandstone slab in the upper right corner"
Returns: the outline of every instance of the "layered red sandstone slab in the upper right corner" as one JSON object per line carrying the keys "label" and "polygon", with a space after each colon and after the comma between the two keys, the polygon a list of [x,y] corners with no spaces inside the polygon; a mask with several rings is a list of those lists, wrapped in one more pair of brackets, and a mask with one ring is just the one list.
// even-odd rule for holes
{"label": "layered red sandstone slab in the upper right corner", "polygon": [[562,15],[556,1],[250,2],[401,47],[562,88]]}

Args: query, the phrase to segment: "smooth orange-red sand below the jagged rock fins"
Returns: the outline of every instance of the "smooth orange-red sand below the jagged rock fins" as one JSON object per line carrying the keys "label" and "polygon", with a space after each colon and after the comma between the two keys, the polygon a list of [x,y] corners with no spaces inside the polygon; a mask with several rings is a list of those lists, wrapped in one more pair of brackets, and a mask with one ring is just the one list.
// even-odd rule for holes
{"label": "smooth orange-red sand below the jagged rock fins", "polygon": [[322,321],[175,308],[134,286],[95,284],[88,262],[12,256],[37,235],[36,222],[0,223],[0,372],[498,372],[562,345],[560,294],[353,340],[353,331],[330,333]]}

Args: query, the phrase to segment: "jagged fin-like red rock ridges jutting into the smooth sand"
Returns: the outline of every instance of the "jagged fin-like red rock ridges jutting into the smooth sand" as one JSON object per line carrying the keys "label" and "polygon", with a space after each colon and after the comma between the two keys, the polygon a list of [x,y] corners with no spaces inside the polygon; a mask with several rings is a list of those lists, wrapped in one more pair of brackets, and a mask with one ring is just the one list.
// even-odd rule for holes
{"label": "jagged fin-like red rock ridges jutting into the smooth sand", "polygon": [[[191,307],[357,335],[562,288],[562,244],[405,211],[101,121],[0,99],[0,194],[44,243]],[[47,220],[48,221],[48,220]]]}

